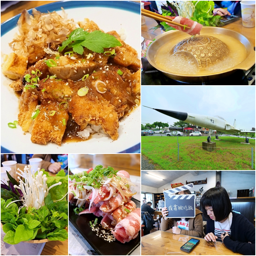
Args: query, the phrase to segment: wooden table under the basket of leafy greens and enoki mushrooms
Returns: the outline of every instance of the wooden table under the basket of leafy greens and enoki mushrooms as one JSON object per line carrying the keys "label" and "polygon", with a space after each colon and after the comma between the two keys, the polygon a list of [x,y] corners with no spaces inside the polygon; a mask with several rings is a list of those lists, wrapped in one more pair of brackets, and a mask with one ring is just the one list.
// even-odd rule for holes
{"label": "wooden table under the basket of leafy greens and enoki mushrooms", "polygon": [[[23,171],[25,164],[17,163],[17,168]],[[48,172],[49,176],[56,176],[56,174]],[[50,241],[45,243],[41,255],[68,255],[68,239],[65,241]]]}

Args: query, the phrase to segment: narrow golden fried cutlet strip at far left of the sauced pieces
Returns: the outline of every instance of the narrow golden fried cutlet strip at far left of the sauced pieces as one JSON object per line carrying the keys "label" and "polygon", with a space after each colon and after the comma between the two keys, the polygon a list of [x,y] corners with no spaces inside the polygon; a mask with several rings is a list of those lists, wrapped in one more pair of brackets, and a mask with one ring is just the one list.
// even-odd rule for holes
{"label": "narrow golden fried cutlet strip at far left of the sauced pieces", "polygon": [[30,129],[30,125],[33,122],[31,116],[37,105],[38,96],[36,94],[33,94],[31,90],[22,92],[19,101],[18,122],[24,132],[27,132]]}

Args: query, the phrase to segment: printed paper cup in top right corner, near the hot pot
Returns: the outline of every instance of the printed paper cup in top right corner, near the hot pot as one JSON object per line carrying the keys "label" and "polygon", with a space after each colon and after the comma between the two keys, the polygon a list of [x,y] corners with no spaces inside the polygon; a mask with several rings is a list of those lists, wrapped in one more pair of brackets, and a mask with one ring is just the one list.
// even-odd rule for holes
{"label": "printed paper cup in top right corner, near the hot pot", "polygon": [[242,25],[255,27],[255,1],[241,1]]}

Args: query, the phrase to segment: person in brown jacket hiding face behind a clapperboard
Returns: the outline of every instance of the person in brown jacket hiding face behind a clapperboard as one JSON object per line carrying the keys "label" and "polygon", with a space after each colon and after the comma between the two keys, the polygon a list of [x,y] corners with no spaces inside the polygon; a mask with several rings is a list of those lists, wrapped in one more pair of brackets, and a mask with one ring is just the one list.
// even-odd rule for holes
{"label": "person in brown jacket hiding face behind a clapperboard", "polygon": [[[191,194],[187,189],[176,193],[176,195]],[[193,237],[203,237],[203,218],[202,211],[196,209],[195,218],[165,218],[168,214],[167,208],[162,208],[161,230],[169,230],[172,228],[174,234],[182,234]],[[174,226],[173,226],[174,225]],[[173,227],[172,227],[173,226]]]}

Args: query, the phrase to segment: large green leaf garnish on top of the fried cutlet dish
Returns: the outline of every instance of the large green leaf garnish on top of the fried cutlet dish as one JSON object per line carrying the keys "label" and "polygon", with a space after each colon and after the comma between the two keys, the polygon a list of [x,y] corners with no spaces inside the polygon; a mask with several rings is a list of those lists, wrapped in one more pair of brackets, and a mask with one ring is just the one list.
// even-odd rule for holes
{"label": "large green leaf garnish on top of the fried cutlet dish", "polygon": [[116,46],[121,46],[121,43],[113,35],[99,30],[89,33],[82,28],[78,28],[72,31],[68,39],[62,42],[59,52],[62,52],[67,47],[73,48],[74,52],[82,55],[83,47],[86,47],[93,52],[103,53],[104,48]]}

